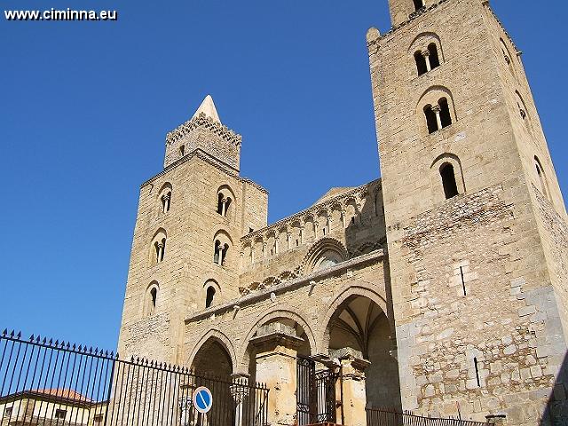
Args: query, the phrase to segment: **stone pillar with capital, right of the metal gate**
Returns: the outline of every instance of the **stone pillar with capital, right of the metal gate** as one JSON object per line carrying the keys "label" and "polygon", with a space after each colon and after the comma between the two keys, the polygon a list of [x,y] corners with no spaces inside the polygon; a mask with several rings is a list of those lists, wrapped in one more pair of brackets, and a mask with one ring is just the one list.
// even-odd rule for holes
{"label": "stone pillar with capital, right of the metal gate", "polygon": [[[331,355],[331,354],[330,354]],[[371,363],[363,359],[359,351],[343,348],[336,351],[332,357],[341,363],[342,377],[338,380],[337,395],[342,395],[341,410],[338,410],[337,419],[349,426],[367,426],[367,393],[365,391],[365,368]],[[343,388],[343,389],[342,389]]]}

